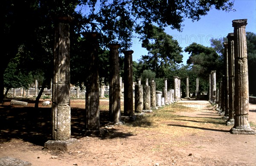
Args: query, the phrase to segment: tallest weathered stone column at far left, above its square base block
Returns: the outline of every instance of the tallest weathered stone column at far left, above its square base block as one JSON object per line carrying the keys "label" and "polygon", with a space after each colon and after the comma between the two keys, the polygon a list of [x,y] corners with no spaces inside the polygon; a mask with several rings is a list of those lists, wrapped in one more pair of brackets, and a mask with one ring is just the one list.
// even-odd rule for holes
{"label": "tallest weathered stone column at far left, above its square base block", "polygon": [[70,114],[70,38],[71,17],[55,21],[55,48],[52,88],[52,138],[66,141],[71,135]]}

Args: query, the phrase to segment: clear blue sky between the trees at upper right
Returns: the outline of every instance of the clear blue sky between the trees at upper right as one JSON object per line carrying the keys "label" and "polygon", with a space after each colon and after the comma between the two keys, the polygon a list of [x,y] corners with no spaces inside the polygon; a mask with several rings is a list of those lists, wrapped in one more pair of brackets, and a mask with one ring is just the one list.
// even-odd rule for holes
{"label": "clear blue sky between the trees at upper right", "polygon": [[[235,0],[234,8],[236,11],[218,11],[212,9],[209,13],[201,17],[201,20],[192,22],[186,19],[183,22],[183,31],[178,32],[171,28],[166,28],[166,33],[177,39],[180,47],[183,49],[197,42],[204,46],[210,46],[209,40],[213,38],[226,37],[228,33],[233,32],[232,20],[247,19],[246,31],[256,33],[256,0]],[[148,52],[141,47],[139,39],[134,38],[134,44],[131,47],[133,53],[133,60],[137,61],[141,55],[146,55]],[[188,53],[183,52],[183,64],[189,57]]]}

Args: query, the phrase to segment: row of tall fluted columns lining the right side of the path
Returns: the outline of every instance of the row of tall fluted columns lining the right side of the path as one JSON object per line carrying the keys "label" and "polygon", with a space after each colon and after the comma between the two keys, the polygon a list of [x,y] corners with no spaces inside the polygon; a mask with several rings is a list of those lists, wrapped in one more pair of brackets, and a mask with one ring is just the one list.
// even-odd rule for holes
{"label": "row of tall fluted columns lining the right side of the path", "polygon": [[219,113],[233,125],[233,134],[256,134],[250,128],[247,43],[247,19],[233,20],[234,32],[224,42],[225,74],[219,82]]}

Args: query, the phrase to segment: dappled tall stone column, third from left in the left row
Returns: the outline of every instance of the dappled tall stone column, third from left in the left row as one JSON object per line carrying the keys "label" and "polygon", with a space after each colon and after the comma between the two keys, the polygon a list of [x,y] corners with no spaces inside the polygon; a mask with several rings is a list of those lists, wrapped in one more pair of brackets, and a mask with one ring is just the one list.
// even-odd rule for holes
{"label": "dappled tall stone column, third from left in the left row", "polygon": [[109,120],[118,123],[121,120],[120,76],[119,76],[119,44],[109,44],[110,48],[110,83],[109,83]]}

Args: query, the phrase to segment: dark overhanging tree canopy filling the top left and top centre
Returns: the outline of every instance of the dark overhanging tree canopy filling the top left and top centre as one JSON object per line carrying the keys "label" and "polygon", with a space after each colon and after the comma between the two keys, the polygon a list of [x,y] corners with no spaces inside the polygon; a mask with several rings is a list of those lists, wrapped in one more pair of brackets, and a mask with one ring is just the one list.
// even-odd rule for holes
{"label": "dark overhanging tree canopy filling the top left and top centre", "polygon": [[[81,10],[74,11],[77,5],[81,6]],[[46,40],[54,41],[52,38],[54,33],[46,31],[54,27],[50,18],[68,14],[74,17],[74,21],[70,23],[70,34],[76,34],[72,35],[76,39],[81,37],[84,31],[98,31],[101,34],[99,44],[102,48],[105,48],[109,42],[119,42],[122,49],[128,49],[131,46],[134,29],[145,30],[156,23],[160,27],[170,26],[181,30],[184,18],[199,20],[213,7],[231,11],[233,2],[230,0],[113,0],[111,2],[108,0],[3,0],[0,7],[1,37],[4,41],[2,57],[6,59],[0,62],[0,90],[3,92],[3,73],[10,59],[16,56],[20,45],[24,44],[29,48],[30,44],[38,41],[45,50],[52,50],[52,46],[42,44],[47,43]],[[87,7],[88,10],[84,12],[83,7]],[[40,30],[45,33],[39,37],[37,32]],[[30,47],[30,54],[34,54],[34,51],[36,50]],[[3,101],[3,95],[0,95],[0,101]]]}

